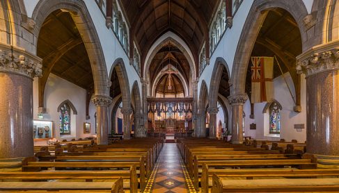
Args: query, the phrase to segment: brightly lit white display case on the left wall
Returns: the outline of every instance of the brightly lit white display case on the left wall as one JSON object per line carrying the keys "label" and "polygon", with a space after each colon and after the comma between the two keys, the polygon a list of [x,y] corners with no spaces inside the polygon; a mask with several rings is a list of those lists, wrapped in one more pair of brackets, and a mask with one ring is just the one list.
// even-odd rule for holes
{"label": "brightly lit white display case on the left wall", "polygon": [[53,129],[53,121],[33,120],[33,139],[52,139]]}

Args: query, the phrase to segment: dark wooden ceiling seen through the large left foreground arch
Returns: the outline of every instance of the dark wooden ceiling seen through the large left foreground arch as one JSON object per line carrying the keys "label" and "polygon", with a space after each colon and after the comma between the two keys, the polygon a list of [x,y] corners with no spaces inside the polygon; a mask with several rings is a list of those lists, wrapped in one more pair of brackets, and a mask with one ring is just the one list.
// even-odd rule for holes
{"label": "dark wooden ceiling seen through the large left foreground arch", "polygon": [[37,55],[42,58],[42,80],[52,72],[79,87],[93,87],[88,54],[69,12],[56,10],[45,19]]}

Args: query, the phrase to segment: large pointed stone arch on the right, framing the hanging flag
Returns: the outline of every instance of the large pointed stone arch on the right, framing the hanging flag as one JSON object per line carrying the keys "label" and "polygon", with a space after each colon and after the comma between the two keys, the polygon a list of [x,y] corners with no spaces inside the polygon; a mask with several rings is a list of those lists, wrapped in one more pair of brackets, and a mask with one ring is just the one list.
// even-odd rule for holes
{"label": "large pointed stone arch on the right, framing the hanging flag", "polygon": [[290,12],[294,20],[297,22],[301,33],[302,50],[308,49],[306,26],[303,23],[303,18],[308,15],[305,4],[302,0],[296,1],[280,1],[280,0],[258,0],[254,1],[246,22],[242,28],[242,34],[239,37],[235,58],[232,67],[232,89],[231,94],[245,93],[246,69],[249,65],[251,50],[254,47],[255,40],[258,37],[260,28],[265,21],[269,10],[274,8],[282,8]]}

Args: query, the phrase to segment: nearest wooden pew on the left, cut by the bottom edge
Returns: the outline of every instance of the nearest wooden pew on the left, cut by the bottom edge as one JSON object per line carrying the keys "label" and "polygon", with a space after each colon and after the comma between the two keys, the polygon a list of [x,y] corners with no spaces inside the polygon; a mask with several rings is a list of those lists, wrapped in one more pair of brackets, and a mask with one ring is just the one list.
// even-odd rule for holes
{"label": "nearest wooden pew on the left, cut by the bottom edge", "polygon": [[113,182],[0,182],[0,192],[112,192],[121,193],[123,178]]}

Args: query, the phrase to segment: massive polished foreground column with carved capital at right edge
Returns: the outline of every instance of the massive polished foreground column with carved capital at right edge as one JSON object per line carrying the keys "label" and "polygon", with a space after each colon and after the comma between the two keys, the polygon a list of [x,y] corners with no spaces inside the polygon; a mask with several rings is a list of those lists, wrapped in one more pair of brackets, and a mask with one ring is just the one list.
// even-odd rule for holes
{"label": "massive polished foreground column with carved capital at right edge", "polygon": [[297,72],[306,74],[307,152],[339,156],[339,42],[301,53]]}

